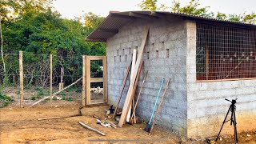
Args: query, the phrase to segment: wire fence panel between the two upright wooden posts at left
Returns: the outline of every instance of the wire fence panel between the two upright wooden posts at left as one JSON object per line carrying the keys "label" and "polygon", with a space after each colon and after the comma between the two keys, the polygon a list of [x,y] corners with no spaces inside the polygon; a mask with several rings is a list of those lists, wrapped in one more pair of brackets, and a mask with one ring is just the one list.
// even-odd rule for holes
{"label": "wire fence panel between the two upright wooden posts at left", "polygon": [[[24,106],[50,95],[50,55],[23,53]],[[45,102],[42,102],[44,104]]]}

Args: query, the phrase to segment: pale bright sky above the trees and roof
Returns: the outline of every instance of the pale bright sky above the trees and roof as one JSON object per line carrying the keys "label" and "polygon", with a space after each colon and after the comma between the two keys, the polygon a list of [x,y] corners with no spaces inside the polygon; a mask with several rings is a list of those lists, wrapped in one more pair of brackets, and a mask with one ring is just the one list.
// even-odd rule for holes
{"label": "pale bright sky above the trees and roof", "polygon": [[[179,0],[182,5],[190,0]],[[63,18],[80,17],[82,14],[93,12],[106,17],[110,10],[127,11],[140,10],[138,4],[142,0],[55,0],[54,8]],[[158,0],[158,4],[171,6],[173,0]],[[200,0],[202,6],[210,6],[210,11],[225,14],[241,14],[256,12],[256,0]]]}

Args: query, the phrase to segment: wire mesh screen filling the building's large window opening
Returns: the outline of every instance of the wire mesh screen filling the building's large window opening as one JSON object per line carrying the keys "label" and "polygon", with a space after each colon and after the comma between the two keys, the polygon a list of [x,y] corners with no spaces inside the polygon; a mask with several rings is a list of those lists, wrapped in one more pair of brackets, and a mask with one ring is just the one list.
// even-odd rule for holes
{"label": "wire mesh screen filling the building's large window opening", "polygon": [[197,23],[197,80],[256,78],[256,30]]}

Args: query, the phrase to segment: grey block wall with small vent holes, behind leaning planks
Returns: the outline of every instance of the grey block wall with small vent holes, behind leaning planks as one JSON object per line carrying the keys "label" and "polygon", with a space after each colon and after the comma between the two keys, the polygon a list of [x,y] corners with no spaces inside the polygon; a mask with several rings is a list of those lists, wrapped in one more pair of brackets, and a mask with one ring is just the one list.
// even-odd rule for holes
{"label": "grey block wall with small vent holes, behind leaning planks", "polygon": [[[150,119],[162,78],[166,78],[166,81],[170,78],[170,86],[156,123],[186,135],[186,25],[182,18],[138,19],[123,26],[112,38],[108,38],[106,42],[108,102],[115,105],[118,101],[133,49],[140,50],[142,34],[146,26],[150,26],[150,33],[143,54],[145,65],[138,90],[146,70],[149,71],[138,102],[137,114],[146,120]],[[127,89],[128,82],[120,108],[125,101]]]}

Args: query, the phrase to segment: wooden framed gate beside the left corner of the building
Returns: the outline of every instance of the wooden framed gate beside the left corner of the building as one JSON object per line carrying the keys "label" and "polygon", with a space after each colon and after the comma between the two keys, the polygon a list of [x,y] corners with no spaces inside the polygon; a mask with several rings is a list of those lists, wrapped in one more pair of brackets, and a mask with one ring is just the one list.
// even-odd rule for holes
{"label": "wooden framed gate beside the left corner of the building", "polygon": [[83,56],[83,106],[107,102],[106,81],[106,56]]}

